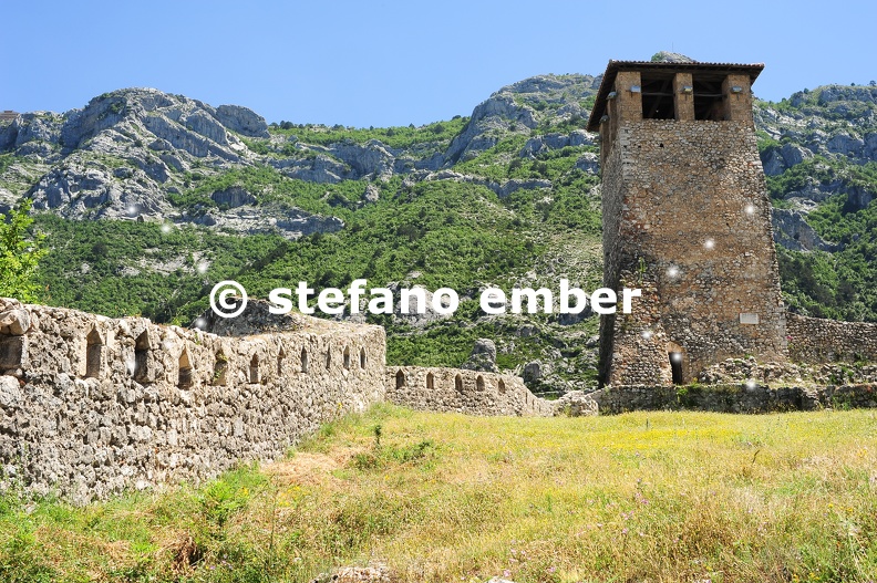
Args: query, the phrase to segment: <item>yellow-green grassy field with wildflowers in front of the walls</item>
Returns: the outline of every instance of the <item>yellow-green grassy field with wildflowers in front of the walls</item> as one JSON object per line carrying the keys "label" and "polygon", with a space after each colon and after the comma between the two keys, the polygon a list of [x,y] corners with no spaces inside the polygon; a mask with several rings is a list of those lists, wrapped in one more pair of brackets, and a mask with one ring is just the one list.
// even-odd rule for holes
{"label": "yellow-green grassy field with wildflowers in front of the walls", "polygon": [[877,579],[877,413],[380,406],[281,462],[87,508],[0,500],[0,581]]}

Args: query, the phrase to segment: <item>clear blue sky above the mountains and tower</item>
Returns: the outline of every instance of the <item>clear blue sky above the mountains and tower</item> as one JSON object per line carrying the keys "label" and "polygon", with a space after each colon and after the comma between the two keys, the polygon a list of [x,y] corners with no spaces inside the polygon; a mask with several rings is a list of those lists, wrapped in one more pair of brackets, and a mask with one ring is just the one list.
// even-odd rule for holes
{"label": "clear blue sky above the mountains and tower", "polygon": [[877,3],[152,0],[6,2],[0,110],[149,86],[269,122],[416,125],[540,73],[675,50],[763,62],[756,95],[877,79]]}

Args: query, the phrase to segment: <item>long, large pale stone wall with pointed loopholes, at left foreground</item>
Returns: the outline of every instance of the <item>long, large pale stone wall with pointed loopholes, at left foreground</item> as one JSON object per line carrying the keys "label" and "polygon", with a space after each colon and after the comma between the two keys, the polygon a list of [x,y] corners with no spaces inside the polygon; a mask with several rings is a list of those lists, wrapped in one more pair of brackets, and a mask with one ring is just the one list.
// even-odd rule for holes
{"label": "long, large pale stone wall with pointed loopholes, at left foreground", "polygon": [[224,337],[0,300],[3,479],[76,501],[282,456],[384,399],[380,326]]}

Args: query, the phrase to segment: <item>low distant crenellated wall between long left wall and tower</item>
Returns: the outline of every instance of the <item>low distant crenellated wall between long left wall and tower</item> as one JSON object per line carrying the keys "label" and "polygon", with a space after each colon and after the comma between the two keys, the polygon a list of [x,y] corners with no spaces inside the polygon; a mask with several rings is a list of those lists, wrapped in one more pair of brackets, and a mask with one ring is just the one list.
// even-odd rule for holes
{"label": "low distant crenellated wall between long left wall and tower", "polygon": [[468,415],[554,415],[513,375],[420,366],[386,367],[386,399],[419,410]]}

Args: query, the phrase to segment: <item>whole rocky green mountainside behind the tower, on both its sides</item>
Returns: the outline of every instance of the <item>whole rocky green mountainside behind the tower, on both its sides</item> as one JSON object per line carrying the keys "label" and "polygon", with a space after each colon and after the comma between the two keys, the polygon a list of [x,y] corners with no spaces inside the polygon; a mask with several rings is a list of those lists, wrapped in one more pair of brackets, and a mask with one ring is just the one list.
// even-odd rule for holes
{"label": "whole rocky green mountainside behind the tower, on both its sides", "polygon": [[[582,128],[599,77],[543,75],[468,117],[421,127],[268,125],[156,90],[0,122],[0,210],[34,199],[47,302],[188,323],[213,283],[451,287],[453,316],[370,316],[391,364],[454,365],[479,337],[530,386],[594,385],[597,319],[486,316],[487,285],[601,281],[598,147]],[[757,89],[757,85],[756,85]],[[785,299],[877,321],[877,89],[760,102],[756,124]]]}

